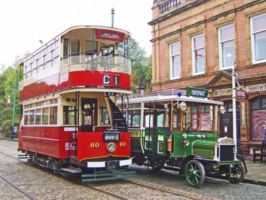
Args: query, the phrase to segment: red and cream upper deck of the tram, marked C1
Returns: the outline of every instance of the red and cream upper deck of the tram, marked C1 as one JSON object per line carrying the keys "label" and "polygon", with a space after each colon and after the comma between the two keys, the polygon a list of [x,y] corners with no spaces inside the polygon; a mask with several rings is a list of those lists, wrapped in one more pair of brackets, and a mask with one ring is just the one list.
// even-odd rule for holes
{"label": "red and cream upper deck of the tram, marked C1", "polygon": [[[113,88],[130,92],[131,33],[105,26],[74,26],[20,62],[19,101],[70,87]],[[118,54],[117,44],[124,42]]]}

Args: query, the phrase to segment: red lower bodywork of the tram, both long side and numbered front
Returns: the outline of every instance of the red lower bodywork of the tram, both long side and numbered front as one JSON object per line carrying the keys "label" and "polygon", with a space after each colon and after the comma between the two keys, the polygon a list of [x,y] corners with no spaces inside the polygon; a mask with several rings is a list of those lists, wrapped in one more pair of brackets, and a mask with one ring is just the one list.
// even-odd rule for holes
{"label": "red lower bodywork of the tram, both long side and numbered front", "polygon": [[[60,131],[61,129],[61,131]],[[68,130],[68,129],[65,129]],[[19,149],[32,151],[56,158],[68,158],[69,141],[68,135],[75,131],[65,131],[64,127],[23,127],[19,131]],[[38,131],[38,133],[37,133]],[[92,147],[91,143],[99,143],[99,147]],[[110,142],[103,142],[102,132],[78,133],[78,161],[95,157],[113,156],[130,157],[130,133],[120,133],[120,141],[114,142],[117,149],[114,153],[107,151]],[[73,142],[70,146],[75,146]],[[75,156],[75,152],[70,152]]]}

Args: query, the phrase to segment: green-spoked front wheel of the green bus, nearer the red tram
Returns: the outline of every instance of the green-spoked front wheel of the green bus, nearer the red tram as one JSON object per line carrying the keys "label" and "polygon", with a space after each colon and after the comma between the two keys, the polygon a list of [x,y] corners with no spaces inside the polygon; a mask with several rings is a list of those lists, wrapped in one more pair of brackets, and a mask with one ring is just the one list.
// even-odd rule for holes
{"label": "green-spoked front wheel of the green bus, nearer the red tram", "polygon": [[186,182],[191,187],[200,187],[205,181],[205,170],[201,162],[191,160],[185,169]]}

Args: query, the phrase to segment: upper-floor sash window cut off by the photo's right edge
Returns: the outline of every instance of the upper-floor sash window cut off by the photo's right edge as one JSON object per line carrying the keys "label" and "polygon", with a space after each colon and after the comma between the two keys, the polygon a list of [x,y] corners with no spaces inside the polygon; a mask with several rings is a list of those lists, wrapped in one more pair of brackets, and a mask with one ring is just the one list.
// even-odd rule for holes
{"label": "upper-floor sash window cut off by the photo's right edge", "polygon": [[266,62],[266,13],[250,18],[252,63]]}

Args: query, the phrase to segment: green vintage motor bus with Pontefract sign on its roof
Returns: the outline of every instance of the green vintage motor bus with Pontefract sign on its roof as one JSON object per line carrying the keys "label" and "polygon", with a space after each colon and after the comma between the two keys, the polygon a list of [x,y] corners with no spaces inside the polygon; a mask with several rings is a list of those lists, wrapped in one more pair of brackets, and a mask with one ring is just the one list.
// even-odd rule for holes
{"label": "green vintage motor bus with Pontefract sign on its roof", "polygon": [[223,102],[207,96],[206,89],[187,87],[118,99],[131,133],[133,162],[153,170],[172,166],[192,187],[200,187],[205,176],[222,174],[231,183],[241,182],[246,173],[243,156],[236,154],[232,138],[219,138]]}

